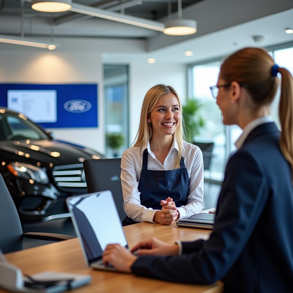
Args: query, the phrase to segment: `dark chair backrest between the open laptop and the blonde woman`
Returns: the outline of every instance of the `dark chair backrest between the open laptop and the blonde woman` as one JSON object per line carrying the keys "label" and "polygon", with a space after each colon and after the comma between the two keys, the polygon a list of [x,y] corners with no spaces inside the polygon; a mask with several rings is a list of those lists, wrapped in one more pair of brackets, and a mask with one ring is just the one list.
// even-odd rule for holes
{"label": "dark chair backrest between the open laptop and the blonde woman", "polygon": [[121,158],[84,160],[84,174],[88,193],[110,190],[122,222],[126,214],[123,209],[120,173]]}

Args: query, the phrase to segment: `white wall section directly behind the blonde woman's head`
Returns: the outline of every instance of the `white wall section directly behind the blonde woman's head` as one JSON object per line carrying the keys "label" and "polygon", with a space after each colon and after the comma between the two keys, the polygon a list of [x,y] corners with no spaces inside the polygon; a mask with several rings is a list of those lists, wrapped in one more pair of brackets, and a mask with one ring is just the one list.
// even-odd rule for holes
{"label": "white wall section directly behind the blonde woman's head", "polygon": [[133,142],[138,126],[142,101],[147,91],[156,84],[173,86],[178,92],[181,101],[187,95],[187,70],[186,65],[169,63],[131,62],[129,76],[129,137]]}

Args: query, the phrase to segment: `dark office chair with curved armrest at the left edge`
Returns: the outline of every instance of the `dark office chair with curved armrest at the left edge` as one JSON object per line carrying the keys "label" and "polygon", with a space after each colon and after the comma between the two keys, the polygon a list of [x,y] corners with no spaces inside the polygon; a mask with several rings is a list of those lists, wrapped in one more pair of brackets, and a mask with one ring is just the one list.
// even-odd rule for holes
{"label": "dark office chair with curved armrest at the left edge", "polygon": [[3,253],[21,250],[23,238],[57,242],[75,237],[53,233],[23,233],[16,207],[0,174],[0,249]]}

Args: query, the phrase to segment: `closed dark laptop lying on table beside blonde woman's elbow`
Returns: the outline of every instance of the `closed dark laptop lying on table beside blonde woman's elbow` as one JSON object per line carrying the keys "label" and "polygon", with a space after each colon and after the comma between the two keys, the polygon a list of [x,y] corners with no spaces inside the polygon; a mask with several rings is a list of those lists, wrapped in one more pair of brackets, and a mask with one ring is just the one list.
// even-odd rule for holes
{"label": "closed dark laptop lying on table beside blonde woman's elbow", "polygon": [[186,219],[176,222],[177,226],[213,229],[215,222],[215,214],[200,213]]}

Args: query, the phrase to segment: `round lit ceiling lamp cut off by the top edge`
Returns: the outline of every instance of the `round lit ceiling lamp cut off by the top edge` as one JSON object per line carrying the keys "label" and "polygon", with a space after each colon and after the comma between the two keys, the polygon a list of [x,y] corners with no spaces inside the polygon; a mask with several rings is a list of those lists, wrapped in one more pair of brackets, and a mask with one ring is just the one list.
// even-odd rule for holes
{"label": "round lit ceiling lamp cut off by the top edge", "polygon": [[32,8],[42,12],[63,12],[71,8],[72,0],[32,0]]}

